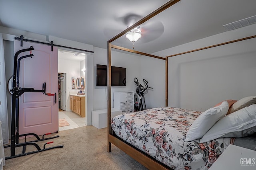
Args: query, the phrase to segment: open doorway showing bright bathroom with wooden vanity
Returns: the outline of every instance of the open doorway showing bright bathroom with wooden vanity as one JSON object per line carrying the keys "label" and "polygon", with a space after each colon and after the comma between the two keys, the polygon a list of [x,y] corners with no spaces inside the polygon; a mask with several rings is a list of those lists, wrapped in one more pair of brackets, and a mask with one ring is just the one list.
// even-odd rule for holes
{"label": "open doorway showing bright bathroom with wooden vanity", "polygon": [[85,126],[86,54],[58,49],[59,131]]}

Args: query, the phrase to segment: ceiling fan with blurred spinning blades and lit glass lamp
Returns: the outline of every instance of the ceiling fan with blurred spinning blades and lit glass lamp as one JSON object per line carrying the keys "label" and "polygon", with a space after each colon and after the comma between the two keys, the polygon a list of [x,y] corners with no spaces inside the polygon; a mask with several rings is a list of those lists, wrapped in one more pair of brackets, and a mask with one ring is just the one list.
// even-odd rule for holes
{"label": "ceiling fan with blurred spinning blades and lit glass lamp", "polygon": [[[125,16],[115,18],[111,27],[104,28],[104,35],[110,39],[140,19],[142,19],[142,16],[138,14],[126,14]],[[164,33],[164,25],[162,22],[150,20],[128,31],[125,36],[118,38],[116,42],[127,43],[129,39],[133,43],[137,40],[138,43],[147,43],[157,39],[162,33]]]}

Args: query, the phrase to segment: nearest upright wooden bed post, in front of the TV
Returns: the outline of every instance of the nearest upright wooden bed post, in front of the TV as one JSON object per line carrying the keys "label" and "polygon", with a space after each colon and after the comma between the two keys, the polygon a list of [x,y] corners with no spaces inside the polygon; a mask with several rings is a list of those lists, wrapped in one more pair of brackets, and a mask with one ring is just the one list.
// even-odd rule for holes
{"label": "nearest upright wooden bed post, in front of the TV", "polygon": [[108,41],[108,152],[111,152],[111,143],[109,142],[111,131],[111,42]]}

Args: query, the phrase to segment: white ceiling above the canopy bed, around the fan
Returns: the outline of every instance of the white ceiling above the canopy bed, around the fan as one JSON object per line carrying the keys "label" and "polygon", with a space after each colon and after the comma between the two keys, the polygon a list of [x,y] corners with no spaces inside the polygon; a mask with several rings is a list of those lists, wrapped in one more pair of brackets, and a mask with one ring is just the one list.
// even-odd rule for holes
{"label": "white ceiling above the canopy bed, around the fan", "polygon": [[[0,26],[106,49],[107,41],[128,26],[122,22],[126,15],[144,17],[166,2],[168,0],[0,0]],[[255,15],[256,0],[181,0],[140,25],[142,37],[134,49],[145,53],[161,51],[225,32],[222,25]],[[113,44],[132,48],[132,42],[124,36]]]}

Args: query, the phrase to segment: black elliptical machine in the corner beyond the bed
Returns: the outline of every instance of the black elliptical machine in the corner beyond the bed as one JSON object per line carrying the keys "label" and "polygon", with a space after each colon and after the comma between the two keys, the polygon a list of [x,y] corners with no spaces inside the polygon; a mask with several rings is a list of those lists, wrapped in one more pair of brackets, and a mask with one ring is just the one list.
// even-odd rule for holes
{"label": "black elliptical machine in the corner beyond the bed", "polygon": [[[145,103],[145,97],[144,97],[144,92],[151,87],[148,87],[148,81],[143,79],[143,82],[145,84],[145,87],[142,86],[137,78],[134,78],[135,85],[137,86],[136,88],[136,93],[134,94],[134,109],[135,111],[142,111],[147,109],[146,108],[146,103]],[[153,88],[151,88],[153,89]]]}

